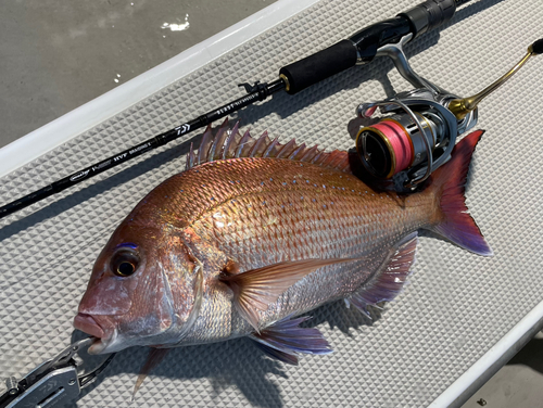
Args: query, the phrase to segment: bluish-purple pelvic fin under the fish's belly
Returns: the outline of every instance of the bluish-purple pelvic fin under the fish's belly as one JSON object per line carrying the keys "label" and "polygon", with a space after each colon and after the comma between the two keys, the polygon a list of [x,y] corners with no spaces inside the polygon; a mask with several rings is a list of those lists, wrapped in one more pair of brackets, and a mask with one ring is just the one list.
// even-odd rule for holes
{"label": "bluish-purple pelvic fin under the fish's belly", "polygon": [[291,316],[251,334],[255,344],[269,357],[289,365],[298,366],[298,354],[330,354],[333,350],[318,329],[301,328],[300,324],[311,317]]}

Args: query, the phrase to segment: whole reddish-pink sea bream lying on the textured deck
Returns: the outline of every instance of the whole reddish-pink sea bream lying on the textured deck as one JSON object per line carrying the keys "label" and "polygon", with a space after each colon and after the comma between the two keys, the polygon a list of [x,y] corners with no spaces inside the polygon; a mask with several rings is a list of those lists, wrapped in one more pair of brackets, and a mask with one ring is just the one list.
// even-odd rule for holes
{"label": "whole reddish-pink sea bream lying on the textured deck", "polygon": [[292,317],[340,298],[362,310],[392,299],[419,229],[490,254],[463,196],[480,135],[411,195],[372,190],[351,173],[345,152],[253,140],[237,127],[210,135],[100,254],[75,319],[99,337],[90,352],[250,335],[295,362],[298,353],[329,346]]}

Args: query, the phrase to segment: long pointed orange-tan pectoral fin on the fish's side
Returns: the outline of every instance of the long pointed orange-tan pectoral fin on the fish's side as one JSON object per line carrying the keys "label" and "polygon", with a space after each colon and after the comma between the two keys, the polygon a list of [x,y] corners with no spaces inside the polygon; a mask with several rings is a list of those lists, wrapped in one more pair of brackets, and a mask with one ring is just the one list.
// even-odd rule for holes
{"label": "long pointed orange-tan pectoral fin on the fish's side", "polygon": [[258,331],[258,311],[267,310],[281,294],[314,270],[351,258],[302,259],[268,265],[242,273],[226,271],[220,280],[233,291],[233,305],[238,313]]}

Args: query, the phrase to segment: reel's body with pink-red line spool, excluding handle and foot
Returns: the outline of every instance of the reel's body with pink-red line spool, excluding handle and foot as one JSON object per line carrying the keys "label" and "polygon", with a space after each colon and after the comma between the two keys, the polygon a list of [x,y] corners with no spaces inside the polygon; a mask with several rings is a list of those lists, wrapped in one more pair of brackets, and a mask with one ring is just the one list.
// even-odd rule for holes
{"label": "reel's body with pink-red line spool, excluding handle and foot", "polygon": [[363,103],[359,117],[382,116],[356,136],[356,150],[366,170],[392,179],[396,190],[412,190],[451,157],[456,138],[477,124],[477,111],[462,120],[446,107],[456,97],[427,88],[402,92],[379,102]]}

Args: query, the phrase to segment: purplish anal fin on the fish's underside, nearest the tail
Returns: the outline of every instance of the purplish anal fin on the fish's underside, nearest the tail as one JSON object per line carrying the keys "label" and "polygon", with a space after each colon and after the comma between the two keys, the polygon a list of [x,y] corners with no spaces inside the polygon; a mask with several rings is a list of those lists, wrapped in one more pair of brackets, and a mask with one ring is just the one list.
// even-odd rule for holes
{"label": "purplish anal fin on the fish's underside, nearest the tail", "polygon": [[415,263],[417,241],[417,232],[401,240],[390,251],[379,271],[350,298],[345,298],[345,303],[354,305],[371,318],[367,310],[368,305],[393,301],[408,282],[407,279],[412,273],[409,269]]}

